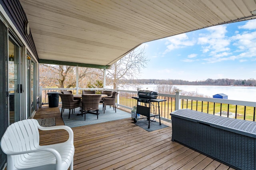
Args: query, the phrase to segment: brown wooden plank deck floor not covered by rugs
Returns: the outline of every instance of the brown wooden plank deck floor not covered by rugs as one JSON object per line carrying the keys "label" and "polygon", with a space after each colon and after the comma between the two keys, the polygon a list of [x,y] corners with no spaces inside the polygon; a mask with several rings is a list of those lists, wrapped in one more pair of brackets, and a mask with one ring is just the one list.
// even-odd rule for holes
{"label": "brown wooden plank deck floor not covered by rugs", "polygon": [[[64,125],[58,107],[38,109],[34,119],[55,117]],[[170,127],[148,132],[122,119],[83,127],[74,127],[74,170],[233,170],[177,142],[172,142]],[[67,139],[67,132],[40,132],[40,144]]]}

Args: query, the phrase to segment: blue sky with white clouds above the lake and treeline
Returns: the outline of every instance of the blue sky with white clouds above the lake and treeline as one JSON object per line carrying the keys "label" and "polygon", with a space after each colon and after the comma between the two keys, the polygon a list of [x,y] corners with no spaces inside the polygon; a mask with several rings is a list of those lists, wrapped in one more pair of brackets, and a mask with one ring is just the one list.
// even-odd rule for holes
{"label": "blue sky with white clouds above the lake and treeline", "polygon": [[256,79],[256,19],[213,26],[145,45],[139,79]]}

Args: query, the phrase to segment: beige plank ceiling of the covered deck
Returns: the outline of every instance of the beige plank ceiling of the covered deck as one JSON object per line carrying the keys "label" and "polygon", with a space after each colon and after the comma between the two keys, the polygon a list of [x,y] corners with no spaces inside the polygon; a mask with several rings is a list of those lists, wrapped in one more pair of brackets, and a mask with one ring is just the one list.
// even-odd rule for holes
{"label": "beige plank ceiling of the covered deck", "polygon": [[255,0],[20,0],[41,62],[109,66],[138,45],[250,20]]}

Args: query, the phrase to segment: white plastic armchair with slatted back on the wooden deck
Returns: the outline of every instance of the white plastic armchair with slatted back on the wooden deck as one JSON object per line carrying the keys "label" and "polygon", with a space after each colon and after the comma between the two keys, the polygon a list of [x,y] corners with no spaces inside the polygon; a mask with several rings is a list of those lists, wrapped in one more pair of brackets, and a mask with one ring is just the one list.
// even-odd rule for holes
{"label": "white plastic armchair with slatted back on the wooden deck", "polygon": [[[39,130],[64,129],[66,142],[39,145]],[[36,119],[10,125],[1,139],[2,151],[7,154],[7,170],[73,170],[74,134],[70,127],[41,127]]]}

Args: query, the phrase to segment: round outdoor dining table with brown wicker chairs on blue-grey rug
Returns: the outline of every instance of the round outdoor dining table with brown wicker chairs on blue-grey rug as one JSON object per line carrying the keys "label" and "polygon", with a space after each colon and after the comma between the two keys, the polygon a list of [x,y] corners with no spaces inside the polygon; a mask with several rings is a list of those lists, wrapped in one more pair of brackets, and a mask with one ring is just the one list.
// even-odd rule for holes
{"label": "round outdoor dining table with brown wicker chairs on blue-grey rug", "polygon": [[80,95],[73,95],[72,91],[62,91],[59,93],[62,107],[61,107],[61,117],[64,109],[69,109],[68,119],[70,119],[70,113],[74,112],[75,108],[80,108],[81,114],[84,115],[84,120],[86,120],[86,113],[91,113],[94,115],[99,115],[99,104],[102,103],[102,110],[105,113],[106,106],[113,106],[116,112],[116,98],[118,92],[115,91],[101,91],[101,94],[96,94],[95,90],[83,90]]}

